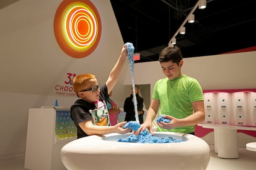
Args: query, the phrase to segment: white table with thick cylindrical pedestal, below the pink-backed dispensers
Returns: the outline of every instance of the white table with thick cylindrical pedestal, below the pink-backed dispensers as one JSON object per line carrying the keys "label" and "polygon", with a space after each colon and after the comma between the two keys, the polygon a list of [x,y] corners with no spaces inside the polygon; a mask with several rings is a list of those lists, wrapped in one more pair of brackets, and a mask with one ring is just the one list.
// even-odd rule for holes
{"label": "white table with thick cylindrical pedestal, below the pink-backed dispensers", "polygon": [[227,159],[239,158],[237,130],[256,130],[256,127],[236,125],[198,124],[198,126],[214,129],[215,153],[218,153],[218,157]]}

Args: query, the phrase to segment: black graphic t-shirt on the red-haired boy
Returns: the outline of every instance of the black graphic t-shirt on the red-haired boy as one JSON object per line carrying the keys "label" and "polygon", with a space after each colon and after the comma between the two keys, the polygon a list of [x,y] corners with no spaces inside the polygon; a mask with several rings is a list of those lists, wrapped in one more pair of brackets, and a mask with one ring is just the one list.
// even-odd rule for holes
{"label": "black graphic t-shirt on the red-haired boy", "polygon": [[[107,119],[106,126],[110,126],[108,108],[105,102],[108,98],[109,98],[108,88],[106,84],[104,84],[102,87],[100,87],[100,93],[99,93],[98,102],[100,103],[101,106],[98,106],[96,102],[90,103],[90,102],[84,101],[83,99],[76,100],[76,102],[71,106],[70,116],[77,128],[77,139],[81,137],[89,136],[79,126],[79,123],[81,122],[86,122],[88,120],[91,120],[93,124],[96,125],[95,123],[97,122],[96,119],[102,119],[102,117],[105,117]],[[100,116],[97,116],[97,111],[99,110],[102,110],[105,113],[102,113],[100,114]]]}

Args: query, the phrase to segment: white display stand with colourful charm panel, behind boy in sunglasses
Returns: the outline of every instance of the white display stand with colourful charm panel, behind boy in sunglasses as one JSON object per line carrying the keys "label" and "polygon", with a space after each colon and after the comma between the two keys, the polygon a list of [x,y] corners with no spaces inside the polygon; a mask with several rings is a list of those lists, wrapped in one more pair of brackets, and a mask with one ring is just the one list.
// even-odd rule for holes
{"label": "white display stand with colourful charm panel, behind boy in sunglasses", "polygon": [[77,139],[70,108],[29,108],[24,167],[29,170],[65,170],[61,148]]}

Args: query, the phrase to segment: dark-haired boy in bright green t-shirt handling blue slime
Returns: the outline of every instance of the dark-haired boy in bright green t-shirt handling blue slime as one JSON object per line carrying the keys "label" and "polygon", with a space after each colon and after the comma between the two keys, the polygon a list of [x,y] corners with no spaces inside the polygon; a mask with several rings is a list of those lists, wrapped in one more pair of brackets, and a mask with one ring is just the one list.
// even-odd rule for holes
{"label": "dark-haired boy in bright green t-shirt handling blue slime", "polygon": [[157,115],[171,122],[157,122],[157,131],[180,132],[195,135],[195,125],[205,119],[203,91],[194,78],[182,73],[183,57],[177,47],[166,47],[159,54],[159,62],[166,78],[156,82],[145,122],[136,131],[148,128]]}

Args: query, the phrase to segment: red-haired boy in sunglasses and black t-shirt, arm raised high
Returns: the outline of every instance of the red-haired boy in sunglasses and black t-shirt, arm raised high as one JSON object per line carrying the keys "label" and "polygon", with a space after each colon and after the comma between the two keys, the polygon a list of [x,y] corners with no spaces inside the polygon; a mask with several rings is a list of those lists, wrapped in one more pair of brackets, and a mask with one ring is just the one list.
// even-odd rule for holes
{"label": "red-haired boy in sunglasses and black t-shirt, arm raised high", "polygon": [[128,128],[123,129],[126,122],[111,126],[106,105],[108,94],[116,85],[126,58],[127,48],[124,45],[116,65],[102,87],[93,74],[81,74],[73,79],[73,89],[81,98],[70,108],[71,118],[77,127],[78,139],[90,135],[124,134],[130,131]]}

